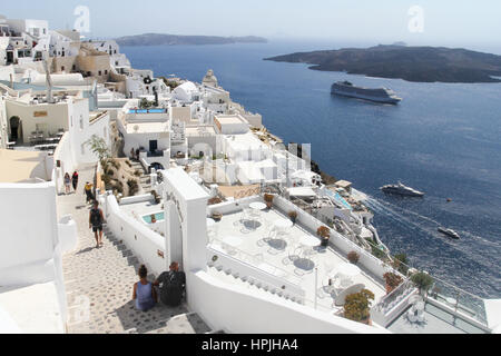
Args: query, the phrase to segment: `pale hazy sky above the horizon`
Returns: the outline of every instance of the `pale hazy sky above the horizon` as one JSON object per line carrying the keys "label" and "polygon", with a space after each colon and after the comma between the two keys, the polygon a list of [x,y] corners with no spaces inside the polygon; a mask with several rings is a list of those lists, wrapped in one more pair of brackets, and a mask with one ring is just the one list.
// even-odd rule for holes
{"label": "pale hazy sky above the horizon", "polygon": [[[99,38],[159,32],[501,47],[499,0],[2,0],[0,12],[73,28],[77,6],[90,10],[86,34]],[[409,30],[413,6],[424,11],[422,32]]]}

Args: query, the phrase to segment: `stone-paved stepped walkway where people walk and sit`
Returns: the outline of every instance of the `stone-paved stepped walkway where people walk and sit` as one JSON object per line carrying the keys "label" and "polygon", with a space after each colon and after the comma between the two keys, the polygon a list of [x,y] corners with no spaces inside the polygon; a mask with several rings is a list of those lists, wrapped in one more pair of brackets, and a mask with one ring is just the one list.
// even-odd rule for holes
{"label": "stone-paved stepped walkway where people walk and sit", "polygon": [[57,197],[58,216],[71,215],[78,225],[78,247],[63,257],[70,334],[203,334],[210,329],[186,306],[157,305],[148,313],[134,307],[132,285],[138,280],[139,261],[121,241],[107,234],[96,249],[88,229],[89,205],[84,185],[92,181],[94,166],[79,169],[76,194]]}

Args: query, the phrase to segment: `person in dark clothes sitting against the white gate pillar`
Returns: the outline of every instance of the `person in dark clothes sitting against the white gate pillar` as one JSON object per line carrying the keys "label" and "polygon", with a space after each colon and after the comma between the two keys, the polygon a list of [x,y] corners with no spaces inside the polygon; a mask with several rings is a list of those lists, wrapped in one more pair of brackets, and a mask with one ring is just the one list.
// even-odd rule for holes
{"label": "person in dark clothes sitting against the white gate pillar", "polygon": [[163,273],[154,285],[160,287],[161,303],[170,307],[177,307],[181,304],[184,297],[186,275],[184,271],[179,271],[178,263],[171,263],[169,269],[169,271]]}

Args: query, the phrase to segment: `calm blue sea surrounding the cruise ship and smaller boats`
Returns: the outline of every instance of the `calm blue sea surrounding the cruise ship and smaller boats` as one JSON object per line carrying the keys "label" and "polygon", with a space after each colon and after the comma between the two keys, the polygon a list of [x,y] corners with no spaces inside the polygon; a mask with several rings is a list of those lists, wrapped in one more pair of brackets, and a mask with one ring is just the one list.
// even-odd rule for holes
{"label": "calm blue sea surrounding the cruise ship and smaller boats", "polygon": [[[370,44],[370,43],[369,43]],[[411,265],[480,295],[501,297],[501,85],[412,83],[320,72],[263,58],[346,43],[125,47],[135,68],[219,85],[286,141],[312,144],[323,170],[372,197],[375,225]],[[390,87],[404,100],[382,106],[332,97],[335,80]],[[385,196],[402,180],[423,199]],[[451,198],[451,202],[446,199]],[[449,240],[436,228],[455,229]]]}

